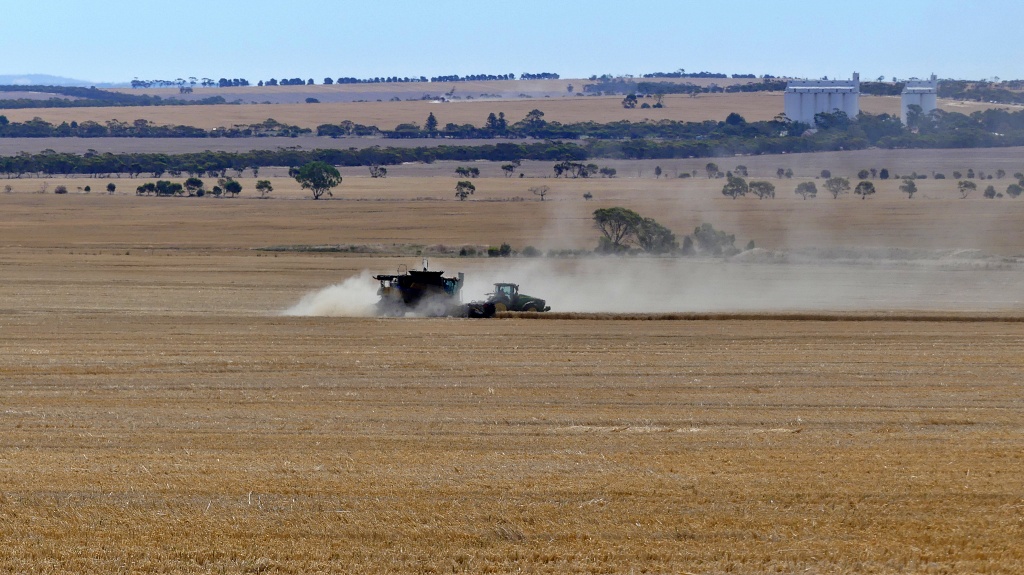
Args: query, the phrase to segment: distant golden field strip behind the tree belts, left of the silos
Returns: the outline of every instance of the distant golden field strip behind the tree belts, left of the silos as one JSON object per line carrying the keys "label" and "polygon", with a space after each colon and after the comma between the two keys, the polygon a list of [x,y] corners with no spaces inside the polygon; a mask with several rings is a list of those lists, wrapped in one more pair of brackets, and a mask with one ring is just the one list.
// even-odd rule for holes
{"label": "distant golden field strip behind the tree belts, left of the silos", "polygon": [[[505,113],[510,122],[518,122],[531,109],[544,112],[551,122],[614,122],[620,120],[682,120],[723,121],[730,113],[737,113],[749,121],[771,120],[782,112],[781,93],[701,94],[691,98],[685,95],[666,96],[666,107],[625,109],[621,96],[585,96],[552,98],[501,98],[460,100],[450,103],[430,101],[383,102],[322,102],[240,105],[186,105],[186,106],[122,106],[83,108],[27,108],[0,109],[12,122],[26,122],[42,118],[51,124],[61,122],[99,122],[110,120],[133,122],[147,120],[167,125],[196,126],[213,129],[239,124],[261,123],[268,118],[285,124],[315,129],[321,124],[338,124],[350,120],[359,124],[393,129],[401,123],[423,125],[431,113],[440,126],[447,123],[482,126],[490,113]],[[978,102],[940,101],[939,107],[970,114],[976,109],[993,107]],[[1009,107],[1009,106],[998,106]],[[862,96],[861,109],[870,114],[899,114],[899,98]]]}

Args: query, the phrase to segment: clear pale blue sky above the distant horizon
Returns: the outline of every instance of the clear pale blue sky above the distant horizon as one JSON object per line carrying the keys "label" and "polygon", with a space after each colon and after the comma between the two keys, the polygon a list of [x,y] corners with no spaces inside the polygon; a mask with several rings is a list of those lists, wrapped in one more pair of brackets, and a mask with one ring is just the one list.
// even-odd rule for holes
{"label": "clear pale blue sky above the distant horizon", "polygon": [[1019,0],[4,0],[0,75],[1024,79]]}

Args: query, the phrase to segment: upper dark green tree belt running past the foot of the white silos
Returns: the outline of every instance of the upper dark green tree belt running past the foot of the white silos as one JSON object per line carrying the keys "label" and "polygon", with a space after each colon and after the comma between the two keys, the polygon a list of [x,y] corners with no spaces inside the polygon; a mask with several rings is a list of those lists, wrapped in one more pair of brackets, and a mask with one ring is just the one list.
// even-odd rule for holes
{"label": "upper dark green tree belt running past the foot of the white silos", "polygon": [[[40,119],[17,123],[0,116],[0,137],[252,137],[308,133],[313,132],[273,120],[250,126],[203,130],[188,126],[158,126],[144,120],[131,124],[110,121],[105,124],[72,122],[54,126]],[[849,118],[839,110],[818,114],[813,126],[790,121],[784,115],[768,121],[748,122],[735,113],[720,122],[663,120],[561,124],[546,121],[540,109],[530,110],[518,122],[508,121],[504,114],[492,113],[481,126],[454,123],[440,126],[440,122],[431,113],[423,127],[407,123],[399,124],[394,130],[380,130],[375,126],[346,121],[317,126],[315,133],[328,137],[380,135],[388,138],[586,139],[583,145],[575,146],[584,150],[584,158],[710,158],[737,153],[864,149],[872,146],[887,149],[1019,146],[1024,145],[1024,110],[991,108],[968,116],[941,109],[924,114],[919,106],[910,106],[906,126],[897,117],[888,114],[861,113],[855,118]],[[573,154],[573,159],[579,159],[577,151]],[[473,156],[477,160],[494,159],[480,157],[493,157],[489,150],[479,150]],[[456,158],[464,159],[468,158]],[[497,160],[515,159],[517,158],[510,157]]]}

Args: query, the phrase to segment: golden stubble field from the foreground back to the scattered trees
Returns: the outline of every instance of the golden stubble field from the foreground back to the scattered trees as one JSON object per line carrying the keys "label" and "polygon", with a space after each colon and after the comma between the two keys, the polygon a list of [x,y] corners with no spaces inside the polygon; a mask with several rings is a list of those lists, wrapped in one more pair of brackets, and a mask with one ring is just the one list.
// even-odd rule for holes
{"label": "golden stubble field from the foreground back to the scattered trees", "polygon": [[[720,182],[665,179],[548,180],[554,202],[461,203],[453,182],[350,177],[330,202],[284,179],[267,201],[0,194],[0,571],[1024,563],[1016,258],[554,261],[574,288],[538,291],[556,310],[587,311],[570,298],[605,282],[591,311],[675,294],[675,311],[724,315],[461,320],[283,316],[306,293],[417,261],[253,250],[590,246],[590,211],[622,204],[777,248],[1014,256],[1024,204],[888,189],[733,202]],[[484,194],[525,193],[486,182]],[[598,201],[579,200],[591,189]],[[431,195],[445,200],[416,200]],[[432,265],[520,280],[516,262]],[[687,282],[662,281],[676,268]],[[800,297],[774,300],[785,293]],[[801,315],[779,313],[800,301]],[[742,302],[753,311],[725,313]]]}

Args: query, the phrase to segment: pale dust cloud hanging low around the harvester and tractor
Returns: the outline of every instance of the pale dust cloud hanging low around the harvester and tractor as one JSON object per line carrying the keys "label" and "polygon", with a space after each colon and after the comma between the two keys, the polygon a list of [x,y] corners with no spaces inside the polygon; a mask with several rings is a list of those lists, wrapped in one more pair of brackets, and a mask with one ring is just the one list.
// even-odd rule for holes
{"label": "pale dust cloud hanging low around the harvester and tractor", "polygon": [[[850,256],[850,254],[845,254]],[[555,312],[1000,311],[1024,306],[1015,259],[939,253],[821,259],[754,251],[730,260],[581,258],[449,260],[466,269],[464,302],[515,282]],[[372,316],[370,271],[305,296],[286,315]]]}

